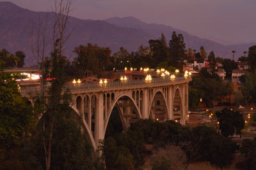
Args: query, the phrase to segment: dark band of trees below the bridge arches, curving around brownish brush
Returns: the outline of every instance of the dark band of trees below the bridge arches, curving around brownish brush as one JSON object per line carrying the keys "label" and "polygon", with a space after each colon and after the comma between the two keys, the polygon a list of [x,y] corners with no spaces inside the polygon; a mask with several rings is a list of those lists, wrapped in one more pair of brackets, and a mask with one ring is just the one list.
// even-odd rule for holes
{"label": "dark band of trees below the bridge arches, curving around brownish brush", "polygon": [[237,150],[234,141],[218,134],[212,127],[190,129],[173,121],[138,120],[125,134],[116,133],[104,140],[107,169],[138,168],[145,162],[144,155],[151,153],[145,144],[154,145],[156,149],[165,145],[180,146],[187,157],[186,166],[195,161],[209,161],[214,166],[227,167]]}

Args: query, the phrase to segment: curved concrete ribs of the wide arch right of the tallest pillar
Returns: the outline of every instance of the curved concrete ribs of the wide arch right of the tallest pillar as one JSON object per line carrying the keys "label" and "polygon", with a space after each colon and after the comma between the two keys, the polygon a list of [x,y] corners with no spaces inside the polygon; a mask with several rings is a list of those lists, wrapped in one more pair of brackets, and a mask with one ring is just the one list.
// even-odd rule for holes
{"label": "curved concrete ribs of the wide arch right of the tallest pillar", "polygon": [[[111,112],[113,111],[113,108],[115,107],[115,105],[118,103],[118,101],[120,101],[120,99],[122,99],[122,97],[128,97],[128,99],[132,102],[132,106],[135,108],[136,110],[136,117],[137,118],[141,118],[141,113],[140,113],[140,109],[138,108],[136,102],[134,101],[133,97],[130,96],[129,94],[121,94],[120,96],[116,97],[115,101],[113,101],[113,104],[111,105],[111,108],[110,110],[108,111],[108,114],[107,114],[107,117],[106,117],[106,122],[105,122],[105,125],[104,125],[104,136],[106,134],[106,130],[107,130],[107,127],[108,127],[108,122],[109,122],[109,118],[111,116]],[[124,114],[124,110],[122,110],[120,108],[120,106],[116,106],[117,110],[118,110],[118,113],[119,113],[119,116],[120,116],[120,119],[121,119],[121,122],[122,122],[122,125],[123,125],[123,128],[125,129],[125,118],[122,116],[122,114]],[[120,115],[121,114],[121,115]]]}

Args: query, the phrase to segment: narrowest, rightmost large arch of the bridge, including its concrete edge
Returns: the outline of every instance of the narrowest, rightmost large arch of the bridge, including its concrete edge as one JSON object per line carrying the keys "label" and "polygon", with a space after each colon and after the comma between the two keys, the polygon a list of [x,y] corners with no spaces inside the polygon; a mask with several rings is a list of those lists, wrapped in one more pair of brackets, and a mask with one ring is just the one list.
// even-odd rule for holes
{"label": "narrowest, rightmost large arch of the bridge, including its concrete edge", "polygon": [[183,115],[184,108],[183,108],[183,102],[182,102],[184,100],[182,99],[182,92],[179,87],[176,87],[174,89],[172,97],[173,97],[173,99],[172,99],[172,101],[173,101],[173,103],[172,103],[172,106],[173,106],[172,107],[173,108],[172,118],[173,118],[173,120],[175,120],[175,121],[177,120],[177,122],[180,122],[181,120],[184,119],[184,115]]}

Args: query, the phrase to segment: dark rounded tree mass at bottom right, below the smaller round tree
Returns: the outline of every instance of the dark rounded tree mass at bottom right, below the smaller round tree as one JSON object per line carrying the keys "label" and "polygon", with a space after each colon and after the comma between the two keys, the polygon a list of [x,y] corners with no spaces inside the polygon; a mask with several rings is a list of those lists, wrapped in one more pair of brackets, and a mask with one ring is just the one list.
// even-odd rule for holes
{"label": "dark rounded tree mass at bottom right, below the smaller round tree", "polygon": [[189,133],[189,143],[182,148],[189,162],[209,161],[222,168],[232,163],[237,146],[231,139],[217,134],[212,127],[198,126]]}

